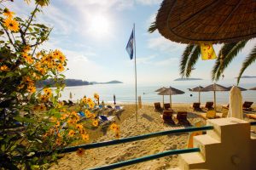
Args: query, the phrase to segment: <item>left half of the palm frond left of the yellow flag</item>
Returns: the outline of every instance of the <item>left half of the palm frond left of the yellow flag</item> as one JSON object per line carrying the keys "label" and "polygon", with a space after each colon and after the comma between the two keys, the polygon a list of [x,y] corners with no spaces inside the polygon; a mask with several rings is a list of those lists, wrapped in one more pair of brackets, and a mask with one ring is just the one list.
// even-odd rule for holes
{"label": "left half of the palm frond left of the yellow flag", "polygon": [[189,44],[189,45],[187,45],[187,47],[183,51],[183,55],[182,55],[182,58],[180,59],[180,63],[179,63],[179,69],[180,69],[179,74],[182,77],[185,77],[185,75],[186,75],[185,72],[186,72],[189,56],[190,56],[190,54],[192,54],[193,48],[195,48],[195,45]]}

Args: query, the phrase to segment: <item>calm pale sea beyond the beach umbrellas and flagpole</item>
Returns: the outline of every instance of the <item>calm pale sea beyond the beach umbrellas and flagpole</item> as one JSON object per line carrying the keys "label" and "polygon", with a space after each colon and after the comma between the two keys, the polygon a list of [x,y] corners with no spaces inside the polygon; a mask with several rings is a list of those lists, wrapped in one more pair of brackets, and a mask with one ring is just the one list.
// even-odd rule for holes
{"label": "calm pale sea beyond the beach umbrellas and flagpole", "polygon": [[[218,84],[224,87],[230,87],[235,84],[234,80],[227,80],[218,82]],[[201,85],[206,87],[212,84],[210,80],[196,80],[196,81],[172,81],[168,83],[138,83],[137,84],[137,96],[141,96],[142,102],[144,103],[154,103],[162,102],[163,96],[158,95],[154,92],[158,88],[162,87],[172,87],[183,90],[185,94],[172,95],[172,103],[193,103],[198,102],[197,92],[189,92],[188,88],[195,88]],[[256,87],[256,78],[253,79],[241,79],[241,88],[254,88]],[[70,93],[72,98],[70,98]],[[74,86],[66,87],[61,93],[61,99],[71,99],[72,101],[77,101],[84,97],[93,98],[93,94],[99,94],[100,101],[105,103],[113,103],[113,95],[115,95],[116,103],[135,103],[135,84],[133,83],[118,83],[118,84],[95,84],[86,86]],[[253,101],[256,103],[256,91],[247,90],[241,92],[243,101]],[[216,92],[217,104],[228,104],[230,98],[230,92]],[[164,96],[165,102],[168,103],[170,100],[169,96]],[[207,101],[213,101],[213,92],[201,92],[201,103]]]}

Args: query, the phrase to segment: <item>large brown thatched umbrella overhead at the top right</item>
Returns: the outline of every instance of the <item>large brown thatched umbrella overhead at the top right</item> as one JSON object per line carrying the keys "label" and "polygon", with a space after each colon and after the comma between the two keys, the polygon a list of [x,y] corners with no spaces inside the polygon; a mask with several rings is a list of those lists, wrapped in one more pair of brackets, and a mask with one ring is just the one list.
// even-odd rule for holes
{"label": "large brown thatched umbrella overhead at the top right", "polygon": [[149,31],[173,42],[239,42],[256,37],[255,8],[252,0],[164,0]]}

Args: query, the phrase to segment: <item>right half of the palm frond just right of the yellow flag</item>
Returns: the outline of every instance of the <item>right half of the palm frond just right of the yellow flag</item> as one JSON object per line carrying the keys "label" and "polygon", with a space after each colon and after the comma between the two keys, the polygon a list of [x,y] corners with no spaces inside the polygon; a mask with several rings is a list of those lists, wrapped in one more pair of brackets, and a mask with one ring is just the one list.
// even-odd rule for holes
{"label": "right half of the palm frond just right of the yellow flag", "polygon": [[214,77],[215,81],[218,81],[221,74],[228,67],[228,65],[230,65],[231,61],[234,58],[236,58],[237,54],[239,52],[241,52],[241,49],[245,47],[247,42],[248,42],[248,40],[236,42],[236,45],[235,45],[235,43],[230,43],[230,45],[224,46],[223,51],[220,51],[220,53],[219,53],[219,55],[221,53],[223,54],[223,62],[220,63],[220,59],[219,59],[218,69],[217,69],[217,72],[215,73],[215,77]]}

